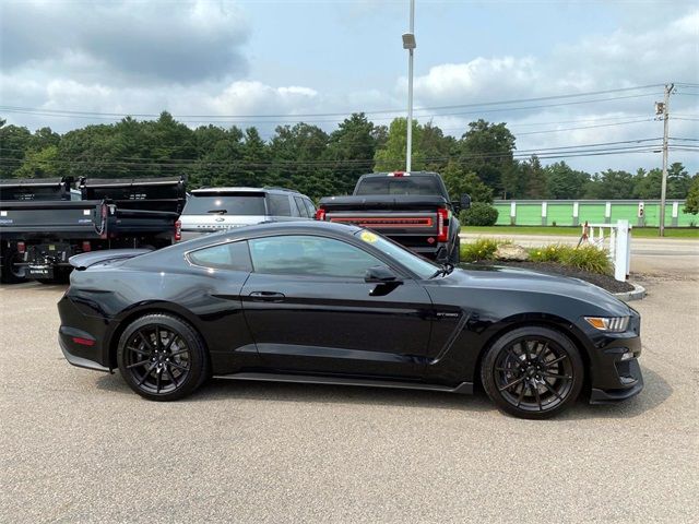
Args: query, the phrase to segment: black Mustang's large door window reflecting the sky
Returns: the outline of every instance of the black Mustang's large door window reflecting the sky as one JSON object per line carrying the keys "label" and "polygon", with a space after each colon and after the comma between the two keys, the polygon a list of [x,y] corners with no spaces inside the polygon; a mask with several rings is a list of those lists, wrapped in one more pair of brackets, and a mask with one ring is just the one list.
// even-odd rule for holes
{"label": "black Mustang's large door window reflecting the sky", "polygon": [[366,251],[332,238],[306,235],[249,240],[256,273],[364,278],[375,265],[386,265]]}

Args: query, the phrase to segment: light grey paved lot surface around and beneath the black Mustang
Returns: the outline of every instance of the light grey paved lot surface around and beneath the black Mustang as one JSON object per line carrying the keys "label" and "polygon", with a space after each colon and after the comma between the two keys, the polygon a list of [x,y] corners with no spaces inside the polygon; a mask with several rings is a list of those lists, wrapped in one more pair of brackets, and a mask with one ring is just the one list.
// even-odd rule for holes
{"label": "light grey paved lot surface around and beneath the black Mustang", "polygon": [[0,521],[690,522],[694,275],[633,302],[640,396],[543,422],[483,394],[225,380],[150,403],[63,360],[62,287],[0,287]]}

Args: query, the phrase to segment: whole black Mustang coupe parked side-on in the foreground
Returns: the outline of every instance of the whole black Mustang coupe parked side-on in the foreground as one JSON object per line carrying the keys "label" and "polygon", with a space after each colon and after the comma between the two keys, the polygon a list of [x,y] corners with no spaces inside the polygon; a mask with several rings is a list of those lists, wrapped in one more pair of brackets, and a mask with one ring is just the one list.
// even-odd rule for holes
{"label": "whole black Mustang coupe parked side-on in the foreground", "polygon": [[241,227],[71,259],[69,362],[171,401],[209,377],[471,393],[545,418],[643,381],[640,317],[582,281],[436,265],[367,229]]}

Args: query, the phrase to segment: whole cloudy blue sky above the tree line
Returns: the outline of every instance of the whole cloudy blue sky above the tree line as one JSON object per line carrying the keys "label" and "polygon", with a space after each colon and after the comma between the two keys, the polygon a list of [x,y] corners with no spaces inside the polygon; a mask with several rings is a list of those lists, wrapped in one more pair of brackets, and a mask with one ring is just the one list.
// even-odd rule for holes
{"label": "whole cloudy blue sky above the tree line", "polygon": [[[332,131],[353,111],[389,123],[407,105],[408,5],[0,0],[0,117],[64,132],[168,110],[191,127],[256,126],[266,138],[300,120]],[[415,35],[415,115],[448,134],[483,118],[507,122],[518,151],[544,163],[660,167],[656,150],[572,147],[657,143],[653,104],[675,83],[671,144],[697,145],[696,1],[416,0]],[[699,170],[697,151],[670,160]]]}

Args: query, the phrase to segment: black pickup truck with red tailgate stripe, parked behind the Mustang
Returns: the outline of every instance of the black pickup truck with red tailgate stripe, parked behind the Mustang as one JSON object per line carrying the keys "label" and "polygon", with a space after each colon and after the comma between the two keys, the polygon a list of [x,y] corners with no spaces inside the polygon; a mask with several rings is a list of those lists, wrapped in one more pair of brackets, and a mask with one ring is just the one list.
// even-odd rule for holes
{"label": "black pickup truck with red tailgate stripe, parked behind the Mustang", "polygon": [[359,177],[351,196],[321,199],[316,219],[367,227],[416,253],[457,264],[457,215],[470,205],[467,194],[452,202],[437,172],[374,172]]}

